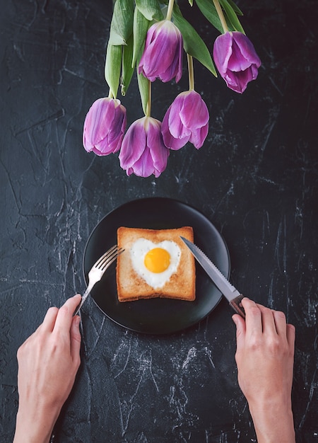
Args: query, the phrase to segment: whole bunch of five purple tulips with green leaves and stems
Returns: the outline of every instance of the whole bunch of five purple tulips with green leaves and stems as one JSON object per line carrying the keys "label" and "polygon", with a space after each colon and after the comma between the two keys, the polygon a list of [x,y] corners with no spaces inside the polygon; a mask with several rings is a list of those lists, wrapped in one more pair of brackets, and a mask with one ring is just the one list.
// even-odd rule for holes
{"label": "whole bunch of five purple tulips with green leaves and stems", "polygon": [[[257,78],[260,59],[245,35],[232,0],[194,0],[201,13],[220,32],[213,59],[204,40],[182,16],[174,0],[116,0],[107,44],[105,80],[109,95],[91,106],[83,128],[86,151],[99,156],[119,151],[120,166],[130,176],[155,177],[165,170],[170,150],[187,142],[201,148],[208,134],[208,108],[194,89],[197,59],[211,74],[220,76],[237,93]],[[192,5],[193,0],[189,0]],[[151,116],[151,84],[155,79],[179,81],[187,54],[189,90],[179,93],[163,122]],[[214,60],[214,63],[213,63]],[[216,65],[216,68],[215,68]],[[124,96],[136,69],[144,117],[126,130]]]}

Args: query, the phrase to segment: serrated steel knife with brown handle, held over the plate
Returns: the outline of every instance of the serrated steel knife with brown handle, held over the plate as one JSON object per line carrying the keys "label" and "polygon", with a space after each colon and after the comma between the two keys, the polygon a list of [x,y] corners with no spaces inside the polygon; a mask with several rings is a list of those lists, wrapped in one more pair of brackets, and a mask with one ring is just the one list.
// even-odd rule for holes
{"label": "serrated steel knife with brown handle, held over the plate", "polygon": [[227,278],[224,277],[222,272],[218,270],[216,265],[211,262],[211,260],[206,256],[205,253],[201,251],[198,246],[196,246],[191,241],[187,240],[187,238],[184,238],[180,236],[182,241],[187,245],[189,250],[192,252],[196,260],[200,263],[200,265],[204,268],[208,276],[211,278],[214,284],[216,284],[216,287],[220,289],[220,292],[230,301],[230,306],[235,310],[235,312],[239,313],[240,316],[245,318],[245,311],[242,306],[242,299],[244,298],[244,295],[240,294],[237,289],[230,284]]}

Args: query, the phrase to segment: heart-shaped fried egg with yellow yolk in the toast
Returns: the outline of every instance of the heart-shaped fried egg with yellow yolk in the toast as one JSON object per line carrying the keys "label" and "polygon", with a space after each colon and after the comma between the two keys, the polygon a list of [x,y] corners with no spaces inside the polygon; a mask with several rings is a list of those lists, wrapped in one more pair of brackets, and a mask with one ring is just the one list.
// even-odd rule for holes
{"label": "heart-shaped fried egg with yellow yolk in the toast", "polygon": [[131,246],[130,257],[135,272],[153,289],[160,289],[177,271],[181,249],[174,241],[153,243],[139,238]]}

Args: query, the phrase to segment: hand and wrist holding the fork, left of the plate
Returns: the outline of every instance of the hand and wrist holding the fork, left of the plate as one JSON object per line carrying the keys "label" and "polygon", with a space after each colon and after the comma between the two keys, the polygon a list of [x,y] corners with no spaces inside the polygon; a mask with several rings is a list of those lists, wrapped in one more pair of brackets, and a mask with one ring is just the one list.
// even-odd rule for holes
{"label": "hand and wrist holding the fork, left of the plate", "polygon": [[13,443],[45,443],[69,396],[81,363],[79,294],[49,308],[43,323],[18,349],[19,406]]}

